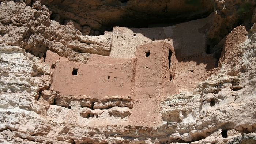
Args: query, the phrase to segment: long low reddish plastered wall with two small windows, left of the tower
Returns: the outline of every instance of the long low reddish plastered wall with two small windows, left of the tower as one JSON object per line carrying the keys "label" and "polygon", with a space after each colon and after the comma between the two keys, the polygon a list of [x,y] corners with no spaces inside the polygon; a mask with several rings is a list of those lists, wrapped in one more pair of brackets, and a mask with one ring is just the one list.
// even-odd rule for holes
{"label": "long low reddish plastered wall with two small windows, left of the tower", "polygon": [[[135,64],[135,59],[109,65],[60,61],[54,68],[51,87],[61,95],[133,97]],[[78,69],[77,75],[72,75],[73,68]]]}

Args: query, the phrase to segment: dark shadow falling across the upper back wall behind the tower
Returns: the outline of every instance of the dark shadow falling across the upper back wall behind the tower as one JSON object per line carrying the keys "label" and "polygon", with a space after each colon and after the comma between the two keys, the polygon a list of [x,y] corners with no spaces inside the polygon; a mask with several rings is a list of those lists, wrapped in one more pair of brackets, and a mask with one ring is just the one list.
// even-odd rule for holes
{"label": "dark shadow falling across the upper back wall behind the tower", "polygon": [[[207,44],[206,38],[195,37],[193,33],[183,34],[180,31],[172,30],[172,27],[174,26],[154,27],[153,29],[131,28],[131,30],[135,35],[142,34],[144,37],[151,39],[152,42],[162,40],[172,43],[178,62],[194,61],[197,65],[206,64],[205,69],[207,71],[218,67],[221,46],[214,47]],[[168,30],[169,33],[166,33]],[[218,52],[212,51],[212,49],[217,49]]]}

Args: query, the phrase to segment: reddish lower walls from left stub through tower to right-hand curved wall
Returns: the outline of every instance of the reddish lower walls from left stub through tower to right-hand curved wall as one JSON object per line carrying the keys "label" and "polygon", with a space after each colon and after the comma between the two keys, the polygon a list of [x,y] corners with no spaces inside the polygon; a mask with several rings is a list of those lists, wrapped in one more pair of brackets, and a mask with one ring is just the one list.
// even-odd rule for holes
{"label": "reddish lower walls from left stub through tower to right-hand curved wall", "polygon": [[[172,51],[170,71],[169,49]],[[145,52],[148,50],[150,50],[150,56],[146,57]],[[207,67],[215,65],[214,58],[206,54],[197,54],[195,58],[186,58],[187,62],[178,62],[174,48],[163,41],[138,46],[136,58],[138,62],[130,63],[132,59],[92,55],[92,60],[88,61],[88,65],[84,65],[79,62],[65,62],[68,60],[64,57],[47,52],[45,62],[50,66],[56,64],[55,68],[51,69],[53,71],[52,88],[63,95],[81,94],[94,98],[114,95],[133,97],[135,96],[133,92],[136,90],[136,99],[153,98],[157,94],[166,96],[176,93],[181,88],[192,88],[194,84],[211,75]],[[136,72],[133,68],[135,63],[138,64]],[[113,65],[117,65],[120,71],[112,71]],[[78,68],[77,76],[72,75],[73,68]],[[81,68],[84,70],[81,71]],[[170,75],[172,75],[171,82]],[[108,76],[110,79],[106,81]],[[128,79],[121,77],[128,77]],[[135,77],[135,82],[131,82],[131,77]]]}

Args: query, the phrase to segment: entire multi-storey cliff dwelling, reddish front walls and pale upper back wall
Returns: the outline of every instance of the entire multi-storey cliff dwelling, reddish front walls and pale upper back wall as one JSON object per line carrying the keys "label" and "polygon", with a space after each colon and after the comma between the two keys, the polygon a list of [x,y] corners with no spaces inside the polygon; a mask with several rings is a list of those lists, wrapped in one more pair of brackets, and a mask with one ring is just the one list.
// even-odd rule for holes
{"label": "entire multi-storey cliff dwelling, reddish front walls and pale upper back wall", "polygon": [[[93,55],[87,64],[56,59],[58,55],[48,51],[45,62],[55,65],[51,87],[63,95],[132,99],[167,96],[180,87],[189,88],[215,67],[215,58],[205,50],[205,34],[198,30],[209,20],[157,28],[114,27],[110,56]],[[187,25],[189,32],[184,30]],[[203,64],[192,65],[193,61]]]}

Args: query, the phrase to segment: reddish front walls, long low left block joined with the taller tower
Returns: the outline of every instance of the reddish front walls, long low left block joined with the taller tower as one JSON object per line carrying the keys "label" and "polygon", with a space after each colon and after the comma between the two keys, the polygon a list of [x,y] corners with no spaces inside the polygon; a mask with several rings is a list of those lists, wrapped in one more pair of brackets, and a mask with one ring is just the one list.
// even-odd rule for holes
{"label": "reddish front walls, long low left block joined with the taller tower", "polygon": [[[169,50],[172,52],[170,69]],[[172,72],[172,77],[175,73],[176,58],[173,47],[162,41],[138,46],[136,51],[136,59],[115,59],[94,55],[95,61],[89,61],[87,65],[68,62],[65,58],[56,56],[56,53],[48,52],[45,62],[55,64],[52,68],[54,70],[52,88],[62,95],[87,95],[94,98],[114,95],[134,96],[134,90],[136,90],[136,99],[167,94],[170,73]],[[115,62],[120,63],[114,64]],[[77,75],[72,74],[73,69],[78,69]]]}

